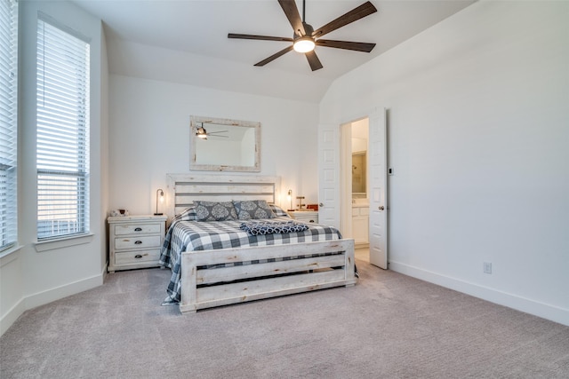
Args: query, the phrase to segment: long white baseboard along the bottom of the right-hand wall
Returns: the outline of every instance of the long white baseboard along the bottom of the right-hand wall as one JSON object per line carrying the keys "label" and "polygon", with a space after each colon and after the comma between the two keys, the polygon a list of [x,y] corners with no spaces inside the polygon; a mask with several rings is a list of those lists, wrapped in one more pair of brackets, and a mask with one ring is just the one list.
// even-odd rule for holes
{"label": "long white baseboard along the bottom of the right-hand wall", "polygon": [[542,319],[551,320],[569,326],[569,309],[564,309],[551,304],[544,304],[522,296],[502,292],[494,288],[480,286],[468,281],[441,275],[437,272],[429,272],[412,265],[405,265],[398,262],[389,261],[389,269],[394,272],[403,273],[429,283],[450,288],[470,296],[475,296],[494,304],[500,304],[520,312],[533,314]]}

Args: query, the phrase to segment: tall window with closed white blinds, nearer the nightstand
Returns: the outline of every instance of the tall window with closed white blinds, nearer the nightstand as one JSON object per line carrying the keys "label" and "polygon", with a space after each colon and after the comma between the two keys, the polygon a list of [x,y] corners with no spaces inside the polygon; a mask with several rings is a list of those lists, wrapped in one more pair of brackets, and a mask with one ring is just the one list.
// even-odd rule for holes
{"label": "tall window with closed white blinds, nearer the nightstand", "polygon": [[86,39],[37,24],[37,240],[89,232]]}

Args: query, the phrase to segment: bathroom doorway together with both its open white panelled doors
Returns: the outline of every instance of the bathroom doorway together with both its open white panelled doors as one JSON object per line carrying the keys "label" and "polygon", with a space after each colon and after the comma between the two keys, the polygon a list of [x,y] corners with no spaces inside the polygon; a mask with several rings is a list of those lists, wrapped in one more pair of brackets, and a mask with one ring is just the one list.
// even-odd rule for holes
{"label": "bathroom doorway together with both its open white panelled doors", "polygon": [[[321,223],[339,226],[345,238],[354,238],[354,203],[367,199],[369,224],[359,231],[368,234],[369,263],[388,269],[388,169],[387,114],[374,107],[351,122],[318,125],[318,199]],[[352,124],[367,122],[366,197],[352,191]],[[352,202],[353,201],[353,202]],[[364,202],[365,204],[365,202]],[[365,211],[364,211],[365,212]],[[363,215],[365,216],[365,215]]]}

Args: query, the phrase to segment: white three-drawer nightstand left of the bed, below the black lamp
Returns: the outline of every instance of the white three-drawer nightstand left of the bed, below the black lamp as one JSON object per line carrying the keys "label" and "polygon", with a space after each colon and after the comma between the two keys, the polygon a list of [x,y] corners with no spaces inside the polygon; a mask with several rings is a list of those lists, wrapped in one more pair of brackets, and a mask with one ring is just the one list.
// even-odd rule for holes
{"label": "white three-drawer nightstand left of the bed, below the black lamp", "polygon": [[108,272],[159,266],[166,218],[108,217]]}

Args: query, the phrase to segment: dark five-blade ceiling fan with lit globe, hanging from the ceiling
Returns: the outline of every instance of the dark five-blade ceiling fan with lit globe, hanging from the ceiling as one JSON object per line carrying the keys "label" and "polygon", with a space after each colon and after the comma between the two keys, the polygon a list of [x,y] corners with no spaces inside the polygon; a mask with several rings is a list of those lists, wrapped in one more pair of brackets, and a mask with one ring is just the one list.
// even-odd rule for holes
{"label": "dark five-blade ceiling fan with lit globe, hanging from the ceiling", "polygon": [[276,37],[276,36],[255,36],[255,35],[241,35],[229,33],[228,38],[238,38],[238,39],[253,39],[262,41],[281,41],[281,42],[291,42],[290,46],[285,49],[276,52],[267,59],[261,60],[256,63],[255,66],[265,66],[268,62],[271,62],[278,57],[284,55],[288,51],[298,51],[303,52],[306,58],[309,60],[309,65],[312,71],[319,70],[322,68],[322,63],[317,57],[317,53],[314,51],[315,46],[325,46],[333,47],[336,49],[345,49],[353,51],[365,51],[370,52],[375,47],[375,43],[361,43],[361,42],[349,42],[349,41],[335,41],[330,39],[321,39],[322,36],[333,32],[334,30],[344,27],[349,23],[363,19],[365,16],[377,12],[375,6],[372,3],[365,2],[357,8],[349,11],[348,13],[340,16],[336,20],[330,21],[324,27],[314,30],[311,25],[307,24],[305,21],[305,3],[302,1],[302,20],[301,15],[296,7],[294,0],[278,0],[278,4],[283,8],[286,18],[291,23],[293,27],[293,38],[286,37]]}

